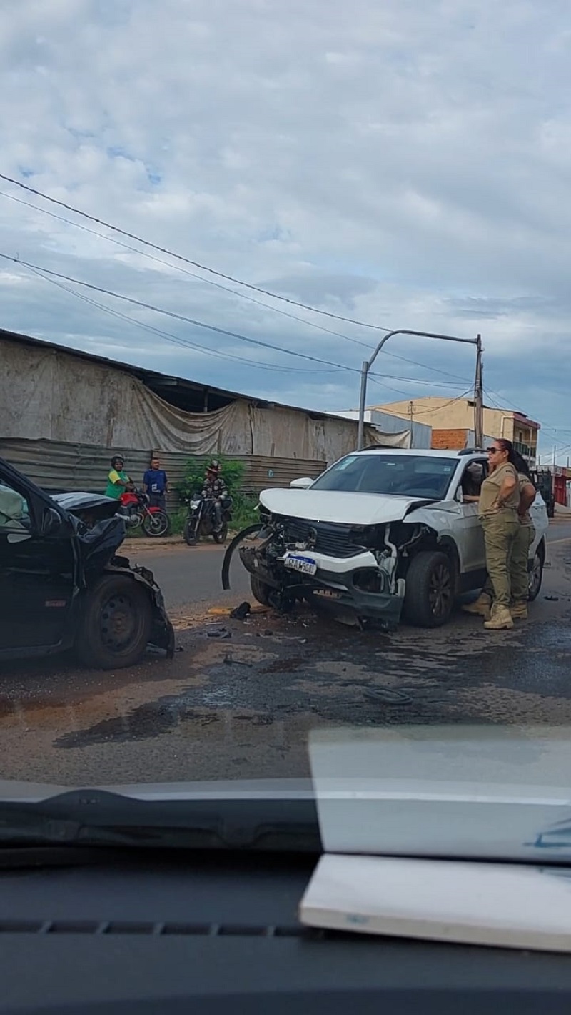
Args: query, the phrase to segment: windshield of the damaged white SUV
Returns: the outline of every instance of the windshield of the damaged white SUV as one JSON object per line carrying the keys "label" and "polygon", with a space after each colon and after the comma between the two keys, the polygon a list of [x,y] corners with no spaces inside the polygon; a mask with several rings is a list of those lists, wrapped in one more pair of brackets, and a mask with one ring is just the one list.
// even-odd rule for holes
{"label": "windshield of the damaged white SUV", "polygon": [[348,455],[311,488],[442,500],[456,466],[457,459],[430,455]]}

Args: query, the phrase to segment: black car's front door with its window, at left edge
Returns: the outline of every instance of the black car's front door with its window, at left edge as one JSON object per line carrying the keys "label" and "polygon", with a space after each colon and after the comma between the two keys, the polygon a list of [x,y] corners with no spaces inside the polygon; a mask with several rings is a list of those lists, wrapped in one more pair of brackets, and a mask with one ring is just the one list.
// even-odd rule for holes
{"label": "black car's front door with its window, at left edge", "polygon": [[0,464],[0,657],[71,641],[76,569],[69,518]]}

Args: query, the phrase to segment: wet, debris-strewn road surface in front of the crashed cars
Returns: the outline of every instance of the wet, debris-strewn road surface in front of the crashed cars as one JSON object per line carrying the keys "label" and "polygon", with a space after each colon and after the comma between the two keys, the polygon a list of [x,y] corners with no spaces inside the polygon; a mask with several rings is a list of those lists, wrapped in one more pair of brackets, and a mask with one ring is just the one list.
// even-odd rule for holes
{"label": "wet, debris-strewn road surface in front of the crashed cars", "polygon": [[[305,775],[315,727],[571,723],[569,523],[552,526],[550,565],[529,621],[492,633],[459,610],[440,630],[403,625],[391,635],[305,607],[232,620],[212,612],[213,601],[198,601],[198,574],[195,601],[188,596],[183,605],[184,552],[132,552],[161,581],[176,627],[174,659],[148,654],[116,673],[80,670],[68,659],[0,669],[4,779],[111,785]],[[219,573],[219,550],[198,554],[197,572]],[[245,588],[240,582],[216,603],[238,603]]]}

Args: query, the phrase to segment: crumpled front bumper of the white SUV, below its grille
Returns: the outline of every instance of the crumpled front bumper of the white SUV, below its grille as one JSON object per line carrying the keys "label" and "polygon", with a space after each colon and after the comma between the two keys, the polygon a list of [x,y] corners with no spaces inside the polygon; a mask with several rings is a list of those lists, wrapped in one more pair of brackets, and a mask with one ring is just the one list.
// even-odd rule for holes
{"label": "crumpled front bumper of the white SUV, below its grille", "polygon": [[[274,589],[292,595],[312,593],[325,609],[375,619],[387,628],[399,624],[403,612],[405,583],[399,582],[398,591],[391,592],[388,573],[379,568],[375,557],[368,550],[352,557],[333,557],[314,550],[300,550],[299,553],[315,561],[317,569],[314,576],[286,567],[283,559],[274,561],[270,570],[257,548],[241,546],[239,549],[240,560],[245,569]],[[379,592],[367,592],[355,584],[355,576],[363,570],[370,570],[380,578]]]}

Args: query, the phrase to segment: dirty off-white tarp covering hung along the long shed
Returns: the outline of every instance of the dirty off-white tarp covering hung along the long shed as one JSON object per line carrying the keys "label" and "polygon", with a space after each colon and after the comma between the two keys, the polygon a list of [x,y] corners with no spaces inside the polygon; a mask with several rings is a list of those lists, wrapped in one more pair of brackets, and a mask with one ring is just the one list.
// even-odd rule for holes
{"label": "dirty off-white tarp covering hung along the long shed", "polygon": [[[333,462],[355,450],[357,423],[335,416],[311,419],[280,406],[259,408],[246,398],[214,412],[184,412],[118,367],[1,339],[0,435]],[[410,432],[366,427],[365,443],[408,448]]]}

